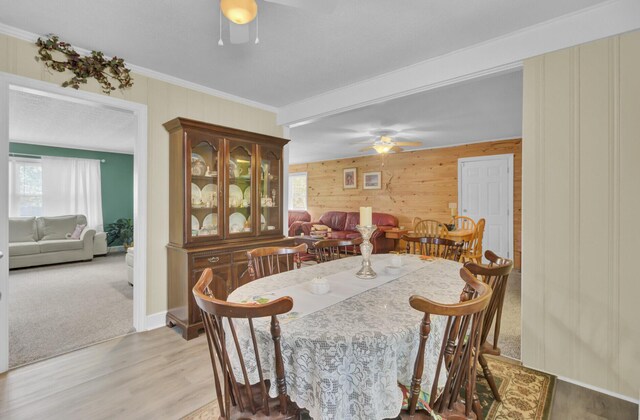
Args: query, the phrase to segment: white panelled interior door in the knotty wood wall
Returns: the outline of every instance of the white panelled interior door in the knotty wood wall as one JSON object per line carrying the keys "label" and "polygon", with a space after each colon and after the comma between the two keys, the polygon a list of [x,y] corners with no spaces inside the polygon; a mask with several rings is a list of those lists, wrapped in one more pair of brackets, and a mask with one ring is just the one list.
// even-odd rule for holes
{"label": "white panelled interior door in the knotty wood wall", "polygon": [[458,213],[485,219],[483,253],[513,259],[513,155],[458,159]]}

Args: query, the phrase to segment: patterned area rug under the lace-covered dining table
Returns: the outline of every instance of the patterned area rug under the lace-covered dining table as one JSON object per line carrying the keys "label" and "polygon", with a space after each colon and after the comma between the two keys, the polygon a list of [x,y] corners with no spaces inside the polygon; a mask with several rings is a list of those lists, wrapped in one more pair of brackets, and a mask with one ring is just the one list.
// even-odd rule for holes
{"label": "patterned area rug under the lace-covered dining table", "polygon": [[[528,369],[503,357],[487,356],[487,363],[498,385],[502,402],[494,400],[489,384],[482,374],[478,374],[477,392],[485,420],[549,419],[555,376]],[[219,415],[218,402],[212,401],[182,420],[214,420]],[[308,418],[303,416],[303,419]]]}

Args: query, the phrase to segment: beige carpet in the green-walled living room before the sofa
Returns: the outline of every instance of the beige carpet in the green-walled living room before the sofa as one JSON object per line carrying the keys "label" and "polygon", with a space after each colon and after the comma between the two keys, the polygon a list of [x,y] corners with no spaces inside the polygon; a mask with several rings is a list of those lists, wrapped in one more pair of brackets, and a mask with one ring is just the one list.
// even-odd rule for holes
{"label": "beige carpet in the green-walled living room before the sofa", "polygon": [[132,331],[123,253],[9,272],[11,368]]}

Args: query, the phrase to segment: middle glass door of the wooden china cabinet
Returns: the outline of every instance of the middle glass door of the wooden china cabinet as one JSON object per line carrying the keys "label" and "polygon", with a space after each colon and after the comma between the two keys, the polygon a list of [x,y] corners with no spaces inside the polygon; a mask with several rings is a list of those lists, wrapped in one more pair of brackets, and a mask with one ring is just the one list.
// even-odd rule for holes
{"label": "middle glass door of the wooden china cabinet", "polygon": [[229,235],[253,233],[251,202],[253,148],[247,143],[229,140]]}

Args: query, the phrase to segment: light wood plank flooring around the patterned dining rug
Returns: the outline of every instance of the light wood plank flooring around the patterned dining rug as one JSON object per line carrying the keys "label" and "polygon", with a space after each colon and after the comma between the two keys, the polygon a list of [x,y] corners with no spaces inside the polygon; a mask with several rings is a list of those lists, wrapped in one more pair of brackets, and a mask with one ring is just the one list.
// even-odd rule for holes
{"label": "light wood plank flooring around the patterned dining rug", "polygon": [[[179,419],[214,395],[204,336],[160,328],[0,375],[0,419]],[[639,417],[637,404],[558,381],[551,418]]]}

